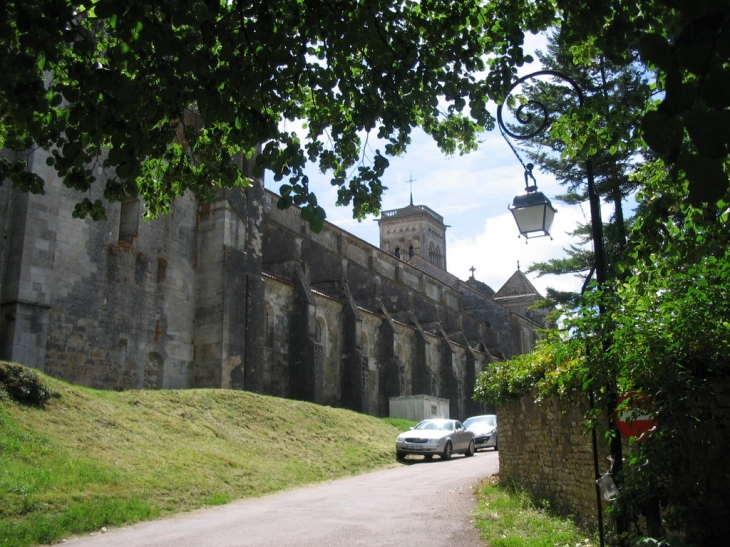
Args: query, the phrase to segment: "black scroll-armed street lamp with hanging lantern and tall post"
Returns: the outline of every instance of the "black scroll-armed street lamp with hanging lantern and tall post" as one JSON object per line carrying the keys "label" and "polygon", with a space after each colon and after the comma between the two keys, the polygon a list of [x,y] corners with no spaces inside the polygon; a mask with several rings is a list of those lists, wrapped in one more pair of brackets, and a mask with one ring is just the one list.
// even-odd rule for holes
{"label": "black scroll-armed street lamp with hanging lantern and tall post", "polygon": [[[529,140],[537,135],[541,134],[543,131],[545,131],[550,122],[550,115],[548,113],[547,107],[540,103],[539,101],[536,101],[534,99],[530,99],[528,101],[523,101],[520,106],[518,106],[515,111],[514,115],[519,124],[525,128],[525,131],[523,133],[515,133],[510,128],[508,128],[502,119],[502,107],[504,106],[504,103],[507,101],[509,96],[511,95],[512,91],[522,85],[525,81],[531,80],[534,78],[538,78],[540,76],[550,76],[553,78],[557,78],[558,80],[562,80],[564,82],[567,82],[575,92],[576,96],[578,97],[578,106],[582,107],[584,98],[583,98],[583,92],[581,91],[580,87],[578,87],[578,84],[576,84],[570,77],[566,76],[565,74],[562,74],[560,72],[556,72],[553,70],[540,70],[537,72],[533,72],[532,74],[528,74],[527,76],[523,76],[522,78],[519,78],[516,82],[512,84],[512,86],[507,90],[507,93],[505,94],[505,100],[497,107],[497,123],[499,125],[499,129],[502,133],[502,136],[507,141],[507,144],[509,144],[512,151],[517,156],[517,159],[522,164],[522,166],[525,168],[525,184],[529,187],[528,184],[528,176],[532,178],[533,182],[535,182],[535,178],[532,175],[532,168],[533,165],[531,163],[528,163],[525,165],[525,163],[522,161],[522,158],[520,158],[520,155],[517,153],[517,150],[514,146],[512,146],[512,143],[510,142],[509,138],[507,136],[509,135],[513,139],[516,140]],[[535,119],[535,116],[533,113],[538,113],[539,118]],[[592,230],[592,237],[593,237],[593,254],[594,254],[594,269],[591,272],[591,274],[588,276],[590,277],[595,273],[596,276],[596,282],[598,283],[599,287],[602,286],[606,281],[606,252],[603,244],[603,223],[601,221],[601,203],[598,198],[598,193],[596,192],[596,184],[595,180],[593,178],[593,160],[592,158],[588,158],[585,162],[585,169],[586,169],[586,179],[588,184],[588,202],[590,204],[590,210],[591,210],[591,230]],[[537,190],[537,184],[533,184],[535,192]],[[529,188],[528,195],[530,194]],[[541,196],[542,193],[538,192]],[[531,233],[529,226],[523,226],[522,219],[518,218],[518,213],[515,212],[515,210],[519,210],[517,207],[517,200],[518,198],[521,198],[522,196],[517,196],[515,198],[515,203],[513,207],[510,207],[512,210],[512,214],[515,215],[515,221],[517,222],[518,228],[520,230],[520,233],[525,235],[525,237],[530,237],[528,234]],[[544,197],[544,196],[543,196]],[[544,219],[547,221],[547,218],[549,217],[550,223],[552,223],[552,216],[555,214],[555,209],[552,208],[552,205],[550,205],[550,201],[547,200],[547,204],[542,205],[542,209],[544,211]],[[536,200],[537,201],[537,200]],[[540,206],[537,206],[537,209],[540,209]],[[526,214],[526,213],[525,213]],[[534,217],[533,217],[534,218]],[[531,221],[536,223],[537,221]],[[546,225],[547,229],[543,228],[542,231],[544,233],[541,233],[540,235],[549,235],[550,226],[549,224]],[[535,230],[536,232],[539,232],[540,230]],[[586,281],[587,285],[587,281]],[[586,285],[584,285],[584,290]],[[603,307],[599,306],[599,313],[603,313]],[[604,341],[604,350],[606,349],[606,343]],[[593,391],[589,390],[589,404],[591,409],[594,406],[594,399],[593,399]],[[609,419],[614,415],[614,410],[616,408],[616,401],[609,402],[609,408],[608,408],[608,414]],[[596,476],[597,481],[601,479],[602,475],[599,470],[598,465],[598,441],[596,439],[596,430],[593,428],[593,466],[594,466],[594,473]],[[611,442],[611,461],[612,461],[612,468],[610,473],[612,475],[616,475],[618,471],[621,468],[621,462],[622,462],[622,454],[621,454],[621,443],[620,438],[618,435],[614,435],[614,439]],[[599,529],[599,537],[600,537],[600,544],[601,547],[603,547],[604,539],[603,539],[603,511],[601,509],[601,491],[598,482],[596,483],[596,507],[598,512],[598,529]],[[619,528],[621,525],[619,524]],[[621,532],[621,530],[618,530]]]}

